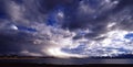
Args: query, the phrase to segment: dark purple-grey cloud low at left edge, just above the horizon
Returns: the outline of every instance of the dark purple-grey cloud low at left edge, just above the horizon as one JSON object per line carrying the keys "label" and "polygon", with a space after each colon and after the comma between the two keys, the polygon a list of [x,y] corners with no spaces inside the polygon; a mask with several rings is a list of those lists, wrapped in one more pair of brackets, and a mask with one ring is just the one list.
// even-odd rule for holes
{"label": "dark purple-grey cloud low at left edge, just above the horizon", "polygon": [[33,36],[24,32],[7,31],[0,33],[0,53],[1,54],[21,54],[23,51],[30,53],[41,53],[40,46],[33,44]]}

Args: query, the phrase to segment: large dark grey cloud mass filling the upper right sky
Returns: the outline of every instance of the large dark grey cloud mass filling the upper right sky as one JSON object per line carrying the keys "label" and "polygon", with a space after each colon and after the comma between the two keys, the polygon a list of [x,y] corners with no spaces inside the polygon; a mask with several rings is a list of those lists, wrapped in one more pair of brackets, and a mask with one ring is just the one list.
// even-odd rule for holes
{"label": "large dark grey cloud mass filling the upper right sky", "polygon": [[[66,19],[69,21],[66,21],[63,24],[63,27],[69,27],[71,31],[78,29],[81,30],[90,29],[93,31],[93,33],[86,34],[86,37],[89,38],[96,37],[101,34],[109,32],[106,26],[109,23],[112,22],[116,23],[115,25],[116,29],[117,27],[120,30],[132,29],[132,12],[133,12],[132,0],[127,0],[127,1],[111,0],[111,2],[108,4],[101,4],[104,2],[104,0],[102,0],[101,2],[99,2],[98,0],[94,1],[83,0],[83,1],[85,1],[84,4],[91,5],[91,8],[88,7],[85,9],[93,10],[93,12],[90,12],[89,10],[88,13],[79,12],[80,10],[79,11],[76,10],[79,7],[76,7],[74,10],[71,11],[72,14],[71,13],[69,14],[70,19]],[[91,2],[96,3],[98,5],[93,7]],[[115,4],[110,7],[110,4],[113,3]]]}

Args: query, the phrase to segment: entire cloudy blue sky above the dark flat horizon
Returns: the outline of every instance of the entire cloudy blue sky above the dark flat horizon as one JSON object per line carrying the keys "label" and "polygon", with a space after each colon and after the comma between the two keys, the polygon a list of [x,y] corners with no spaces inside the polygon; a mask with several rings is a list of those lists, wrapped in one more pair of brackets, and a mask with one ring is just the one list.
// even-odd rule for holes
{"label": "entire cloudy blue sky above the dark flat horizon", "polygon": [[0,55],[133,54],[133,0],[0,0]]}

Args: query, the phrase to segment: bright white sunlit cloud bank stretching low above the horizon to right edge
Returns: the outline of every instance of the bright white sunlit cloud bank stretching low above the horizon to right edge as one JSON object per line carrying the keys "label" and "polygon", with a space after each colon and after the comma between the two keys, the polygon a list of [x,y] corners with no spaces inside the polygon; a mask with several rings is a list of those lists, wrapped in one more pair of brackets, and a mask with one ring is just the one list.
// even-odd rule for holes
{"label": "bright white sunlit cloud bank stretching low above the horizon to right edge", "polygon": [[[37,30],[39,31],[35,36],[43,37],[43,40],[38,40],[40,44],[44,45],[42,46],[43,48],[40,51],[49,56],[60,58],[113,55],[116,56],[119,54],[126,54],[126,51],[130,51],[129,53],[133,51],[133,47],[126,45],[129,44],[130,40],[124,38],[124,35],[131,33],[129,31],[123,31],[119,29],[115,29],[113,31],[109,30],[108,33],[101,35],[106,36],[104,40],[93,41],[85,37],[73,40],[73,37],[78,34],[76,32],[70,32],[69,30],[47,26],[45,24],[35,24],[34,27],[37,27]],[[84,32],[90,33],[88,31]],[[44,37],[48,37],[50,40],[47,40]],[[85,46],[82,53],[71,53],[71,49],[78,48],[81,43],[84,43]],[[62,48],[70,49],[70,53],[62,51]],[[125,52],[122,52],[121,48],[125,49]]]}

